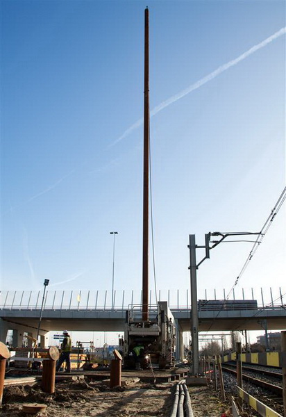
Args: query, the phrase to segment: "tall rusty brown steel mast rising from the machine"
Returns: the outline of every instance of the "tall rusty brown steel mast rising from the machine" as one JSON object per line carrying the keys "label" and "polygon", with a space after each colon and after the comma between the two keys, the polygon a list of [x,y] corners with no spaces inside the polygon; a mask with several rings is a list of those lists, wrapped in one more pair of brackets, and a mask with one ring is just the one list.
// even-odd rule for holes
{"label": "tall rusty brown steel mast rising from the machine", "polygon": [[144,173],[143,173],[143,262],[142,320],[149,319],[149,9],[145,9],[144,36]]}

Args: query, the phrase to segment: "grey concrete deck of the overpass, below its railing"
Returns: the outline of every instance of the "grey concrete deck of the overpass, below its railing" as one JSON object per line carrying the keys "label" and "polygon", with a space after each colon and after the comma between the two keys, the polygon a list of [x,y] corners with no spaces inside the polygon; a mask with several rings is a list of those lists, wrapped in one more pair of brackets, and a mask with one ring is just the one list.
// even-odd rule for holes
{"label": "grey concrete deck of the overpass, below its railing", "polygon": [[[180,332],[190,332],[190,309],[171,309]],[[125,309],[45,309],[42,313],[40,334],[50,331],[81,332],[123,332]],[[0,309],[1,341],[5,343],[9,329],[19,334],[28,332],[35,336],[39,323],[40,309]],[[262,330],[264,322],[267,329],[286,329],[286,309],[282,306],[260,307],[258,309],[205,310],[199,311],[199,331],[211,330]],[[19,340],[18,340],[19,339]],[[21,345],[17,336],[17,345]]]}

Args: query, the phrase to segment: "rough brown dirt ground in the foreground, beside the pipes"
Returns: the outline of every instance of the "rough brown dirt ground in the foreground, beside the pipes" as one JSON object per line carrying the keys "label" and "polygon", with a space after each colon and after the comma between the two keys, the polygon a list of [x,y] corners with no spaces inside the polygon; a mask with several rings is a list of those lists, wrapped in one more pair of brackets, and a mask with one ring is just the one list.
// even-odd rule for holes
{"label": "rough brown dirt ground in the foreground, beside the pipes", "polygon": [[[32,416],[22,411],[22,404],[47,404],[47,411],[37,417],[169,417],[174,399],[175,383],[143,384],[110,389],[102,382],[62,382],[56,393],[42,393],[40,386],[9,386],[3,393],[1,416]],[[194,417],[221,417],[228,409],[220,402],[210,386],[190,388]],[[33,414],[35,416],[35,414]]]}

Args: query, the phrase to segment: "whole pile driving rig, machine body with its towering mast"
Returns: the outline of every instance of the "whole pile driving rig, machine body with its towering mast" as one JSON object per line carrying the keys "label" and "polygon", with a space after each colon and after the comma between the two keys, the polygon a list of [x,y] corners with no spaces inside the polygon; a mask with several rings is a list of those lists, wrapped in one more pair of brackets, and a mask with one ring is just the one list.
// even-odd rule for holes
{"label": "whole pile driving rig, machine body with its towering mast", "polygon": [[135,366],[134,347],[142,347],[141,368],[148,361],[158,363],[160,368],[174,366],[176,329],[174,317],[166,301],[158,302],[155,309],[149,305],[149,10],[145,9],[144,31],[144,172],[143,172],[143,270],[142,310],[133,307],[126,311],[126,325],[122,348],[124,366]]}

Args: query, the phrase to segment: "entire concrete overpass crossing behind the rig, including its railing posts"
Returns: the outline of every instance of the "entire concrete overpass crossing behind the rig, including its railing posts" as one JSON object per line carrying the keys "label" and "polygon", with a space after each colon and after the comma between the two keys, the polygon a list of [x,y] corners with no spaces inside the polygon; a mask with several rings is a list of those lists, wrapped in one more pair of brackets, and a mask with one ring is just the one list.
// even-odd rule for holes
{"label": "entire concrete overpass crossing behind the rig, including its railing posts", "polygon": [[[0,306],[0,340],[4,343],[8,330],[13,331],[14,346],[22,345],[24,332],[33,337],[37,334],[41,310],[39,300],[42,294],[40,291],[34,293],[33,298],[32,292],[27,293],[26,302],[23,302],[24,291],[3,294]],[[123,297],[121,306],[116,305],[111,309],[107,305],[107,297],[102,305],[98,303],[98,296],[95,303],[90,302],[90,292],[84,299],[77,296],[76,302],[72,299],[73,291],[65,299],[66,295],[65,291],[60,292],[57,302],[57,292],[50,292],[49,298],[44,302],[40,325],[42,346],[44,335],[50,331],[68,329],[81,332],[123,332],[126,309],[134,307],[133,297],[128,304]],[[286,329],[286,305],[283,304],[282,297],[278,304],[274,300],[267,305],[258,305],[255,300],[228,300],[226,306],[225,300],[204,300],[200,305],[199,332],[245,329],[261,331],[265,327],[268,330]],[[177,305],[170,307],[176,320],[178,343],[183,344],[183,332],[190,332],[190,306],[180,307],[177,299]],[[152,311],[153,306],[150,309]]]}

